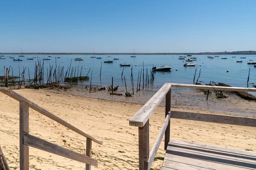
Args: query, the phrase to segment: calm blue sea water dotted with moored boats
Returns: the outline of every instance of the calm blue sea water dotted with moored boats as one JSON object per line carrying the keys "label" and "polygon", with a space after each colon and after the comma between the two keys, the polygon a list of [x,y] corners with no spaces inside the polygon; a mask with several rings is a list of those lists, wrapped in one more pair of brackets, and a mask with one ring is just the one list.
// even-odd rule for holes
{"label": "calm blue sea water dotted with moored boats", "polygon": [[[18,65],[21,70],[23,66],[29,68],[30,77],[34,77],[34,60],[26,60],[27,58],[34,57],[35,55],[25,55],[25,57],[17,57],[14,55],[15,59],[22,58],[23,62],[12,61],[7,55],[6,59],[0,59],[0,75],[4,75],[3,67],[8,67],[11,65],[13,67],[14,76],[18,76]],[[47,58],[48,55],[38,55],[38,57]],[[202,84],[209,83],[210,81],[214,82],[223,82],[231,86],[236,87],[247,87],[247,77],[248,71],[250,68],[250,81],[249,83],[256,83],[256,68],[253,65],[248,65],[250,59],[256,61],[256,55],[235,55],[236,58],[232,58],[234,55],[219,55],[220,57],[215,57],[214,59],[207,58],[208,55],[192,55],[192,57],[197,57],[195,67],[184,67],[183,60],[178,59],[178,55],[137,55],[136,58],[130,57],[131,55],[112,55],[112,57],[107,57],[107,55],[95,55],[96,57],[102,57],[102,59],[90,58],[92,55],[52,55],[51,60],[44,60],[45,64],[45,79],[47,75],[46,66],[49,69],[49,65],[55,66],[55,57],[61,57],[57,59],[57,65],[64,66],[64,74],[67,68],[70,65],[72,59],[71,67],[79,66],[79,74],[81,66],[82,76],[85,76],[89,69],[93,71],[92,84],[93,85],[110,85],[111,77],[114,79],[114,85],[123,86],[125,85],[124,79],[121,79],[122,69],[119,64],[131,64],[133,65],[133,75],[134,75],[134,86],[137,86],[138,72],[143,67],[151,69],[152,65],[159,67],[161,65],[167,65],[172,67],[172,71],[169,72],[155,72],[154,86],[151,89],[157,90],[164,83],[184,83],[184,84],[193,84],[193,78],[195,74],[195,68],[197,68],[196,79],[199,75],[199,70],[201,69],[201,76],[198,81],[201,81]],[[83,61],[75,61],[76,57],[84,58]],[[214,55],[213,55],[214,57]],[[227,59],[221,59],[221,57],[227,57]],[[241,59],[240,57],[246,57],[246,59]],[[114,60],[113,63],[104,63],[105,60],[119,58],[119,60]],[[186,57],[186,59],[189,57]],[[236,60],[243,60],[242,63],[236,62]],[[102,62],[102,76],[99,78],[100,67]],[[137,66],[135,66],[137,65]],[[201,65],[201,66],[200,66]],[[85,69],[87,68],[87,69]],[[175,69],[177,68],[177,71]],[[229,70],[229,72],[227,72]],[[76,71],[77,73],[77,71]],[[11,72],[9,75],[12,75]],[[90,74],[89,74],[90,76]],[[131,67],[125,67],[123,76],[126,78],[126,83],[128,86],[131,86]],[[28,72],[26,70],[25,78],[28,79]],[[196,80],[195,79],[195,80]],[[79,85],[90,85],[90,81],[79,82]],[[253,87],[249,85],[249,87]]]}

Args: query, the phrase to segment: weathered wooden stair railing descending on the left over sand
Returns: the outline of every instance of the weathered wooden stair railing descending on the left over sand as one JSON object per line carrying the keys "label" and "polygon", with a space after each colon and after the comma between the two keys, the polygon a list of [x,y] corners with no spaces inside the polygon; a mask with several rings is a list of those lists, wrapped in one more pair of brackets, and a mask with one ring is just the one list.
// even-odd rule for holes
{"label": "weathered wooden stair railing descending on the left over sand", "polygon": [[[82,132],[78,128],[70,125],[69,123],[60,119],[58,116],[55,116],[54,114],[41,108],[40,106],[29,101],[20,94],[17,94],[16,92],[10,90],[9,88],[0,88],[0,92],[20,102],[20,170],[29,170],[29,147],[35,147],[37,149],[44,150],[49,153],[54,153],[59,156],[64,156],[69,159],[83,162],[86,164],[86,170],[90,170],[91,165],[95,167],[98,166],[98,161],[96,159],[91,158],[91,147],[92,141],[96,142],[97,144],[102,144],[102,142]],[[43,115],[49,117],[55,122],[58,122],[61,125],[64,125],[65,127],[73,130],[74,132],[79,133],[80,135],[86,137],[86,156],[30,135],[29,108],[32,108],[35,111],[38,111],[39,113],[42,113]]]}

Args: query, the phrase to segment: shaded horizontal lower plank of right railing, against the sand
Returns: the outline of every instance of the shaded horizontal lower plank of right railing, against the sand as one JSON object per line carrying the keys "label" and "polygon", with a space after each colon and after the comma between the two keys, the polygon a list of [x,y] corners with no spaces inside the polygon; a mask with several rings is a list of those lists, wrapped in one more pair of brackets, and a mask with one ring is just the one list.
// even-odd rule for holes
{"label": "shaded horizontal lower plank of right railing, against the sand", "polygon": [[185,111],[171,111],[171,118],[256,127],[256,118],[248,117],[225,116],[218,114],[194,113]]}

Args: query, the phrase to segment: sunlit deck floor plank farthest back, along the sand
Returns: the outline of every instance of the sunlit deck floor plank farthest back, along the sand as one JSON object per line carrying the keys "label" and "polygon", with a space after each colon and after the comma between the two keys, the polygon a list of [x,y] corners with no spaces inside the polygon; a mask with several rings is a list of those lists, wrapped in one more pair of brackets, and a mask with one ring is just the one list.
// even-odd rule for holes
{"label": "sunlit deck floor plank farthest back, along the sand", "polygon": [[227,153],[236,153],[236,154],[240,154],[240,155],[256,157],[256,152],[253,152],[253,151],[235,149],[235,148],[230,148],[230,147],[222,147],[222,146],[217,146],[217,145],[213,145],[213,144],[204,144],[204,143],[198,143],[198,142],[183,141],[183,140],[179,140],[179,139],[170,139],[169,144],[182,144],[184,146],[193,146],[193,147],[198,147],[198,148],[209,148],[212,150],[218,150],[218,151],[223,151],[223,152],[227,152]]}

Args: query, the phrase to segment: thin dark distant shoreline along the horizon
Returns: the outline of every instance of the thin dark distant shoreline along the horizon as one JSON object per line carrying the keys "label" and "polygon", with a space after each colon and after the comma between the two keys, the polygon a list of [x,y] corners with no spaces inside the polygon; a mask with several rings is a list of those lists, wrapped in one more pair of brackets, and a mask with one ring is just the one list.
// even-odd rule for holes
{"label": "thin dark distant shoreline along the horizon", "polygon": [[[93,55],[93,53],[0,53],[1,55],[16,55],[16,54],[40,54],[40,55]],[[94,53],[94,55],[222,55],[222,54],[233,54],[233,55],[241,55],[241,54],[256,54],[256,51],[253,52],[220,52],[220,53]]]}

